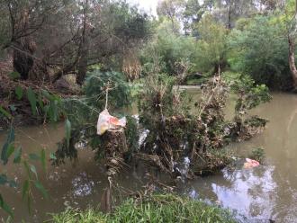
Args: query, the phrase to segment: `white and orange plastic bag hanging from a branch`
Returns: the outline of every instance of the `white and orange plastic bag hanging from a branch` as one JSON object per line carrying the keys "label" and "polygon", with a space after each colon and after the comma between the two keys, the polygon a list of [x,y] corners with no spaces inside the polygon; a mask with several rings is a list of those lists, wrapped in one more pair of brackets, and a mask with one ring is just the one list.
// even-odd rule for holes
{"label": "white and orange plastic bag hanging from a branch", "polygon": [[122,131],[126,127],[126,117],[119,120],[110,115],[107,109],[99,114],[97,122],[97,134],[103,135],[105,131]]}

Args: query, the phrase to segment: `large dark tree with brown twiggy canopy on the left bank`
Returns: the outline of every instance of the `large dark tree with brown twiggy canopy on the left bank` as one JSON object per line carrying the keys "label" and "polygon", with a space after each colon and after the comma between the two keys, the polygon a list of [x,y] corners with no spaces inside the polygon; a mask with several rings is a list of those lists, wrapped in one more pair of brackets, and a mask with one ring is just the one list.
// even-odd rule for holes
{"label": "large dark tree with brown twiggy canopy on the left bank", "polygon": [[1,47],[13,51],[14,70],[23,79],[55,82],[71,73],[83,85],[88,66],[119,69],[125,52],[149,31],[148,16],[121,1],[7,0],[1,6],[9,33],[1,35]]}

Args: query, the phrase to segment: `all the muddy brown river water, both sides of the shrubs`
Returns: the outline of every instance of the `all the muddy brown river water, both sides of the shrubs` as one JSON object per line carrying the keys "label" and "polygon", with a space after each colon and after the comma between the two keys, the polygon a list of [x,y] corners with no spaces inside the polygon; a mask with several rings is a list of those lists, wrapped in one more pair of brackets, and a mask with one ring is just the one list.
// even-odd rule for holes
{"label": "all the muddy brown river water, both sides of the shrubs", "polygon": [[[195,90],[191,94],[196,95]],[[198,94],[197,94],[198,95]],[[267,118],[266,130],[251,140],[233,144],[230,147],[242,157],[252,148],[264,147],[265,164],[254,169],[224,169],[218,174],[185,183],[181,192],[193,198],[217,203],[224,208],[236,210],[244,222],[297,222],[297,95],[274,94],[271,103],[259,106],[253,111]],[[63,125],[39,126],[16,129],[16,142],[22,144],[23,152],[55,151],[56,143],[63,138]],[[0,132],[0,147],[5,134]],[[38,169],[41,169],[36,164]],[[25,179],[22,165],[0,165],[1,173],[7,173],[17,183]],[[130,190],[139,189],[144,183],[142,169],[124,171],[119,182]],[[89,149],[78,150],[78,160],[68,161],[59,167],[48,163],[48,173],[39,174],[40,181],[49,190],[49,200],[42,199],[33,191],[33,215],[28,214],[22,201],[22,192],[1,187],[1,193],[14,208],[15,222],[41,222],[50,219],[50,212],[59,212],[69,207],[85,209],[97,207],[101,201],[106,181],[102,166],[94,162],[94,153]],[[0,222],[5,219],[0,210]]]}

